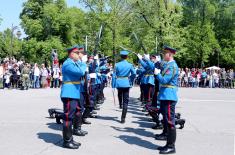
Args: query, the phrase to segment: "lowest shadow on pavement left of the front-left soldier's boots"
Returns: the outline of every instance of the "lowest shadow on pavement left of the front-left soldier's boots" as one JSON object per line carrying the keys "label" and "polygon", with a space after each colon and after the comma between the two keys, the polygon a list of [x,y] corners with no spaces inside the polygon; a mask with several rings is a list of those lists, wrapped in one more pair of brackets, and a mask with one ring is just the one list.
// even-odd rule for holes
{"label": "lowest shadow on pavement left of the front-left soldier's boots", "polygon": [[56,146],[62,146],[61,142],[63,141],[62,136],[55,133],[40,132],[37,133],[38,138],[42,139],[46,143],[51,143]]}

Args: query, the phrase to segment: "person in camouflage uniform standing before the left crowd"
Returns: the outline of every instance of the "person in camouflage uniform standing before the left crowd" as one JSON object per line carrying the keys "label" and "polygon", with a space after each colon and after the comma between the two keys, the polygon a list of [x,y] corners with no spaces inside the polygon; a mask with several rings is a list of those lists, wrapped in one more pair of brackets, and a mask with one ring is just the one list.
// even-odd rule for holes
{"label": "person in camouflage uniform standing before the left crowd", "polygon": [[28,90],[29,88],[29,83],[30,83],[30,79],[29,79],[29,73],[30,73],[30,66],[29,64],[25,64],[22,68],[21,71],[21,78],[22,78],[22,90],[26,89]]}

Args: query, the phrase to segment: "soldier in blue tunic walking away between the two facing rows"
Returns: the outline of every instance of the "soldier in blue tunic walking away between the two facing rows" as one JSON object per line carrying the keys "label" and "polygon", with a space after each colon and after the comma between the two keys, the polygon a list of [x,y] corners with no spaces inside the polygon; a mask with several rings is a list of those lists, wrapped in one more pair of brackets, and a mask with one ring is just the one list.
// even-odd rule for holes
{"label": "soldier in blue tunic walking away between the two facing rows", "polygon": [[123,105],[121,123],[125,123],[129,102],[129,90],[136,76],[134,66],[126,61],[128,53],[128,51],[120,52],[122,60],[115,64],[112,75],[112,88],[117,88],[119,104]]}

